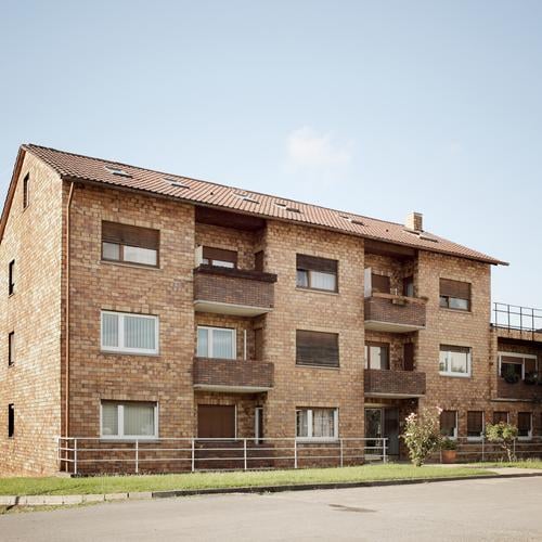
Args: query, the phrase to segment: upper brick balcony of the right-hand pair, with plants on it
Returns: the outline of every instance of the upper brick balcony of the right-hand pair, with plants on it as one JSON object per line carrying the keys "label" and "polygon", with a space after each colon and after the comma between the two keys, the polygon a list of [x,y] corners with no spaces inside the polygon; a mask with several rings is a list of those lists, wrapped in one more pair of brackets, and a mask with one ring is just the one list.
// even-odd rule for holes
{"label": "upper brick balcony of the right-hand pair, with plants on it", "polygon": [[373,293],[365,297],[365,330],[409,333],[425,327],[426,300]]}

